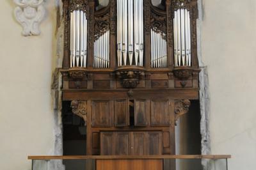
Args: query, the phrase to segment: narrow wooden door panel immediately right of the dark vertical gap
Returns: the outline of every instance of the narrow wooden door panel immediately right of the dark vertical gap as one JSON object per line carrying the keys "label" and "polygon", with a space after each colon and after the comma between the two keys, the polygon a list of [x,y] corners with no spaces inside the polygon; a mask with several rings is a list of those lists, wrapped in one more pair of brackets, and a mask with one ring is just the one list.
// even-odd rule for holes
{"label": "narrow wooden door panel immediately right of the dark vertical gap", "polygon": [[134,100],[134,126],[147,126],[146,100]]}

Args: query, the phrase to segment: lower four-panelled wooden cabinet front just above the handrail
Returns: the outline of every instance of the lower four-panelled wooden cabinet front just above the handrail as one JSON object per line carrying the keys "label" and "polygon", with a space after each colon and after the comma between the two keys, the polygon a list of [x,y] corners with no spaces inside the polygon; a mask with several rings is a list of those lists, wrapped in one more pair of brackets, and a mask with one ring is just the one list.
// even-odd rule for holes
{"label": "lower four-panelled wooden cabinet front just above the handrail", "polygon": [[161,155],[162,132],[101,132],[101,155]]}

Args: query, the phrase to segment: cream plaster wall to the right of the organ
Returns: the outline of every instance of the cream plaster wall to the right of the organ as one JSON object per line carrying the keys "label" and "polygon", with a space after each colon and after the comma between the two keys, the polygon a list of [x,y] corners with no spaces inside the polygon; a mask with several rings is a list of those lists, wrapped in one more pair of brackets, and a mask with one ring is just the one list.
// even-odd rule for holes
{"label": "cream plaster wall to the right of the organ", "polygon": [[213,154],[229,169],[256,168],[256,1],[203,0],[202,58],[209,73]]}

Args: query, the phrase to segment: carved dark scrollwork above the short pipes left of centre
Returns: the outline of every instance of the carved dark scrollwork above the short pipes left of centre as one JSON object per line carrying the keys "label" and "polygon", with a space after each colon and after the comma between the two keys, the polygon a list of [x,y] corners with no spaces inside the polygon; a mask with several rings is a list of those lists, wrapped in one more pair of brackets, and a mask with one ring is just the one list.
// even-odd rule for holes
{"label": "carved dark scrollwork above the short pipes left of centre", "polygon": [[97,40],[109,30],[109,12],[103,16],[95,17],[94,19],[94,36],[95,40]]}

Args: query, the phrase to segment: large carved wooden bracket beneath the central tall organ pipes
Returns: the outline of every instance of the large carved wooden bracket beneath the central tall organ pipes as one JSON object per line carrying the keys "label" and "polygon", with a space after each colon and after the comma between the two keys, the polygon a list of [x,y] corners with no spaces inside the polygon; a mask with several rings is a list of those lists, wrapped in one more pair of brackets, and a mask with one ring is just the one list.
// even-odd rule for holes
{"label": "large carved wooden bracket beneath the central tall organ pipes", "polygon": [[124,66],[116,70],[116,77],[124,88],[136,88],[140,80],[145,78],[145,70],[137,66]]}

